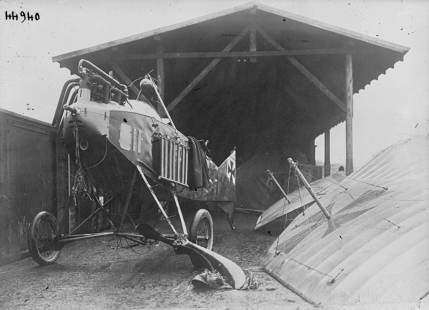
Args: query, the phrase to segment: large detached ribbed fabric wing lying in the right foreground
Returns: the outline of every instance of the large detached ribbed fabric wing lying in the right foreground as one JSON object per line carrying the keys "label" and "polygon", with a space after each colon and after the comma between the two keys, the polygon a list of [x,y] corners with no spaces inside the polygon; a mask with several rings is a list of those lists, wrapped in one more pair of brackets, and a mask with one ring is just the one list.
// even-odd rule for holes
{"label": "large detached ribbed fabric wing lying in the right foreground", "polygon": [[429,301],[428,158],[428,137],[415,136],[357,167],[344,188],[326,182],[332,219],[311,205],[272,244],[265,270],[315,304]]}

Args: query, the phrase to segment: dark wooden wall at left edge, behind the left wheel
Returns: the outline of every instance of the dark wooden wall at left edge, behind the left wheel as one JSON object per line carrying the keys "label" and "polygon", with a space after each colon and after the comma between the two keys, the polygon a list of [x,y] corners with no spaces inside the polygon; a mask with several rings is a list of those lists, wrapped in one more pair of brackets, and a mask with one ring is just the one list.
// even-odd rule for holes
{"label": "dark wooden wall at left edge, behind the left wheel", "polygon": [[40,211],[56,215],[55,134],[48,124],[0,111],[0,265],[25,256]]}

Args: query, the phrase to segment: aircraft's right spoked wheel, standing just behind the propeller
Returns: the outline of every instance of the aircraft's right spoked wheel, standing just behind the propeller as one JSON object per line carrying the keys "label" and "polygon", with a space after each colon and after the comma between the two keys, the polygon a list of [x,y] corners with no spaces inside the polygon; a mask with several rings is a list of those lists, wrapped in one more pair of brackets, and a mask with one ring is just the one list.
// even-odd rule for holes
{"label": "aircraft's right spoked wheel, standing just behind the propeller", "polygon": [[[200,240],[198,240],[198,235],[200,236]],[[201,237],[205,239],[201,240]],[[193,217],[189,229],[189,241],[207,250],[211,250],[213,247],[213,220],[211,219],[210,212],[207,210],[200,209]],[[190,261],[196,268],[204,267],[199,260],[193,256],[190,256]]]}

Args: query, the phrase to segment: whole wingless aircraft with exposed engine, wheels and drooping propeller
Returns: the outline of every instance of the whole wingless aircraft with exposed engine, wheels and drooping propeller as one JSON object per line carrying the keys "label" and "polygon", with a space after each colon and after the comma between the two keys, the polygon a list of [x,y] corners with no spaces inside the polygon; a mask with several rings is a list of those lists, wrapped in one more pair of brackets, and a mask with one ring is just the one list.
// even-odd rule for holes
{"label": "whole wingless aircraft with exposed engine, wheels and drooping propeller", "polygon": [[[134,245],[164,242],[172,246],[176,254],[189,255],[196,267],[220,272],[231,287],[244,286],[246,276],[241,268],[211,251],[213,221],[210,213],[200,208],[188,234],[178,202],[178,198],[215,202],[230,220],[235,200],[235,150],[218,168],[205,154],[204,142],[187,138],[176,129],[150,75],[145,76],[140,87],[142,91],[156,93],[168,120],[162,119],[148,103],[129,100],[126,85],[89,61],[82,59],[78,71],[79,78],[69,79],[64,84],[52,123],[58,129],[57,134],[62,136],[69,155],[76,161],[73,188],[60,221],[42,211],[31,223],[27,241],[34,261],[49,265],[57,260],[66,244],[117,236],[134,242]],[[79,89],[69,100],[71,90],[78,85]],[[68,100],[69,104],[66,104]],[[110,199],[102,203],[98,194]],[[152,226],[142,218],[136,225],[129,212],[130,201],[135,197],[134,207],[141,205],[146,194],[156,203],[158,217]],[[67,210],[76,203],[76,198],[92,199],[98,208],[69,233],[63,233]],[[114,219],[115,211],[106,211],[106,206],[110,207],[109,202],[114,198],[121,205],[117,210],[120,221]],[[171,198],[180,218],[181,232],[175,229],[164,210],[165,204],[162,204]],[[112,232],[76,234],[97,214],[107,218]],[[132,224],[127,225],[131,232],[124,228],[127,216]],[[155,229],[161,216],[173,235],[163,235]],[[230,225],[233,229],[231,220]]]}

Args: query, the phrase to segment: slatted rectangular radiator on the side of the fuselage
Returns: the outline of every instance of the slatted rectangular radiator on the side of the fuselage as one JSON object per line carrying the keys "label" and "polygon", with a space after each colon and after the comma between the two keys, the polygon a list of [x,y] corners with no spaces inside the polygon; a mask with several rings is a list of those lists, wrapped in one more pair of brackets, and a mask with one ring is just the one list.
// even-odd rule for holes
{"label": "slatted rectangular radiator on the side of the fuselage", "polygon": [[189,147],[161,136],[160,177],[187,187]]}

